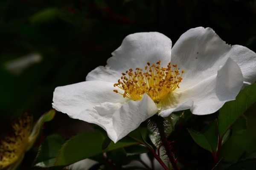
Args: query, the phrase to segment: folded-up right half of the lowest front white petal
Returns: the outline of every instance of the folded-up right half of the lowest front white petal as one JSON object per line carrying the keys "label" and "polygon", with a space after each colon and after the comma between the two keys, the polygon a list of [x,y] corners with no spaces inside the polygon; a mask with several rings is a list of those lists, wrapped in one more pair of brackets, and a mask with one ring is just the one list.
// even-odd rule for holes
{"label": "folded-up right half of the lowest front white petal", "polygon": [[[113,114],[113,127],[117,139],[122,139],[132,130],[139,127],[140,123],[157,113],[158,108],[154,101],[144,95],[141,100],[129,101]],[[114,142],[116,142],[114,141]]]}

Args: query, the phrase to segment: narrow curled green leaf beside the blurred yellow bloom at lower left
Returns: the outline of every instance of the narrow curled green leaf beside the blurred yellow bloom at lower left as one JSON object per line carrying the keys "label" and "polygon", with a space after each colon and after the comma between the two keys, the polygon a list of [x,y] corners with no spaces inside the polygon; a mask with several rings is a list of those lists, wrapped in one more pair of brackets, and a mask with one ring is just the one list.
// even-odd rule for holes
{"label": "narrow curled green leaf beside the blurred yellow bloom at lower left", "polygon": [[52,109],[48,111],[47,113],[44,113],[38,121],[35,123],[32,132],[29,136],[29,145],[26,148],[26,151],[29,150],[35,143],[35,140],[38,138],[39,134],[41,133],[42,126],[44,125],[44,122],[51,121],[55,116],[55,110]]}

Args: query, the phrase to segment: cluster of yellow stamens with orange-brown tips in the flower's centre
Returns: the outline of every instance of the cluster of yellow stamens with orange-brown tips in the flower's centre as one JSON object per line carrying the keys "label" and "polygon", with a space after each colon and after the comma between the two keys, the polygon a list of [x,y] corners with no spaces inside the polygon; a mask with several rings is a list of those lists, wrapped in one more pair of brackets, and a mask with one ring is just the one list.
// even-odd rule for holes
{"label": "cluster of yellow stamens with orange-brown tips in the flower's centre", "polygon": [[135,71],[130,68],[125,71],[125,73],[122,73],[121,79],[118,79],[118,82],[114,84],[114,87],[117,86],[124,92],[113,91],[132,100],[140,100],[143,94],[148,94],[154,102],[158,103],[167,94],[170,94],[176,88],[180,88],[179,83],[182,80],[182,74],[185,72],[181,71],[180,75],[177,64],[171,66],[171,62],[168,63],[167,68],[160,68],[160,62],[159,60],[156,63],[157,65],[151,65],[147,62],[148,66],[145,66],[144,72],[141,68],[136,68]]}

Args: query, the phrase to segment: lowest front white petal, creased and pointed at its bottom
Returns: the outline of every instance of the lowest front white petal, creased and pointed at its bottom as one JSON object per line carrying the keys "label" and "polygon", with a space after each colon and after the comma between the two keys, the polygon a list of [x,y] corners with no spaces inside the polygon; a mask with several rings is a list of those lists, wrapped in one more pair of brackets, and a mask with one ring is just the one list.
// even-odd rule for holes
{"label": "lowest front white petal, creased and pointed at its bottom", "polygon": [[148,95],[144,95],[141,100],[130,100],[122,105],[108,102],[96,105],[82,111],[78,119],[99,125],[107,131],[113,142],[117,142],[157,111],[153,100]]}

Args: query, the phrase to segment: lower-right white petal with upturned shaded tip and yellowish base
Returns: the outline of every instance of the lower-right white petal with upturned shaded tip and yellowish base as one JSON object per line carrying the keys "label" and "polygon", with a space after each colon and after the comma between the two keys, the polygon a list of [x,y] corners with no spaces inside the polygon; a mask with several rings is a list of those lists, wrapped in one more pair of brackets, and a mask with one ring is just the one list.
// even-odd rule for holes
{"label": "lower-right white petal with upturned shaded tip and yellowish base", "polygon": [[188,108],[197,115],[214,113],[225,102],[236,99],[242,85],[241,69],[229,58],[217,74],[164,100],[159,115],[166,117],[173,111]]}

